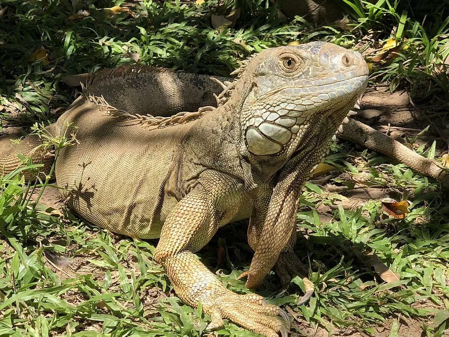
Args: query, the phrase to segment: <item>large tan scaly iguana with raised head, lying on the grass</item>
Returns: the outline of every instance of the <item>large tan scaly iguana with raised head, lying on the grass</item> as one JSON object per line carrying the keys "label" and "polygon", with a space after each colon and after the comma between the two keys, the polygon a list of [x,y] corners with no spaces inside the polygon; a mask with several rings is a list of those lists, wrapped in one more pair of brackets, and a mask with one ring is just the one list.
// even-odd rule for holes
{"label": "large tan scaly iguana with raised head, lying on the grass", "polygon": [[[204,75],[139,66],[100,72],[47,127],[55,136],[76,133],[77,143],[58,153],[56,182],[87,221],[131,237],[160,237],[154,260],[184,302],[201,303],[211,316],[208,330],[229,319],[265,336],[287,336],[284,310],[229,291],[194,252],[220,226],[250,218],[255,254],[247,287],[258,287],[276,265],[284,283],[292,274],[304,277],[300,302],[308,300],[313,285],[293,253],[300,188],[367,81],[359,53],[324,42],[256,54],[224,84],[216,109],[197,111],[214,103],[198,92],[220,91]],[[114,118],[150,113],[160,121],[180,111],[197,113],[149,128]],[[48,166],[51,158],[33,151],[39,144],[38,136],[20,144],[2,138],[0,167],[19,165],[18,152]]]}

